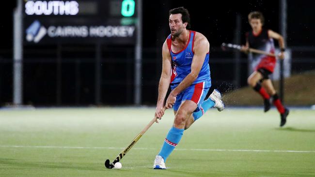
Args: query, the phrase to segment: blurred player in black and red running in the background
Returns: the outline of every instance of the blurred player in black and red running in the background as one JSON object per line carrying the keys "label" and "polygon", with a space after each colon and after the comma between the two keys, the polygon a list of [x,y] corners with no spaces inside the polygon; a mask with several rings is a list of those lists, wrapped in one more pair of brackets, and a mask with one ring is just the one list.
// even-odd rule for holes
{"label": "blurred player in black and red running in the background", "polygon": [[[246,34],[246,46],[242,46],[241,51],[248,53],[248,48],[254,48],[274,54],[275,47],[273,39],[278,40],[281,48],[279,59],[284,59],[284,40],[283,37],[270,30],[264,29],[264,16],[261,12],[251,12],[248,15],[248,21],[252,30]],[[276,58],[262,54],[252,54],[252,66],[254,72],[248,77],[248,84],[264,98],[264,111],[270,109],[270,97],[273,98],[273,104],[277,107],[280,116],[280,126],[284,126],[289,110],[279,100],[278,94],[274,89],[269,75],[273,73],[276,65]]]}

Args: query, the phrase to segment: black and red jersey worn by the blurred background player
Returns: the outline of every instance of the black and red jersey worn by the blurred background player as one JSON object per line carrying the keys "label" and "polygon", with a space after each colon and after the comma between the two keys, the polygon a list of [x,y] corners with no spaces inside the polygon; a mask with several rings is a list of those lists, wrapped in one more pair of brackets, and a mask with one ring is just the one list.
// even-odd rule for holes
{"label": "black and red jersey worn by the blurred background player", "polygon": [[[258,34],[254,34],[251,30],[246,33],[246,38],[249,43],[249,47],[274,54],[275,47],[273,39],[269,38],[268,29],[262,29]],[[274,66],[276,64],[275,57],[253,53],[252,59],[255,65],[255,70],[258,70],[259,68],[265,68],[271,73],[273,72]]]}

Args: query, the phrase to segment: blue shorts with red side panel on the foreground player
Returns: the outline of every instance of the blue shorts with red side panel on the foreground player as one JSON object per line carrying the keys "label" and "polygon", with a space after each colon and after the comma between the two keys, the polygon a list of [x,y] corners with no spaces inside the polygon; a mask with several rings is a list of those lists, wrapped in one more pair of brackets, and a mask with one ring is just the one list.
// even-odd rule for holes
{"label": "blue shorts with red side panel on the foreground player", "polygon": [[[171,86],[172,90],[177,86]],[[198,112],[201,109],[201,103],[205,100],[209,88],[211,87],[211,81],[200,82],[198,84],[193,84],[183,90],[176,96],[176,102],[173,105],[174,111],[177,111],[180,104],[186,100],[191,100],[195,102],[198,107],[194,112]]]}

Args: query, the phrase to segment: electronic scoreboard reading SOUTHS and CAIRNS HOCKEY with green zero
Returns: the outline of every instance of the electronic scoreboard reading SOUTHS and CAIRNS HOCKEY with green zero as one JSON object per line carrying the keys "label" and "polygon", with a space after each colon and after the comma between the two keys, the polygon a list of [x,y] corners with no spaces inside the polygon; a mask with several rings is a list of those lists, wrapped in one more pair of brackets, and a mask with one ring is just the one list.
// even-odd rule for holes
{"label": "electronic scoreboard reading SOUTHS and CAIRNS HOCKEY with green zero", "polygon": [[135,0],[26,0],[24,44],[134,44]]}

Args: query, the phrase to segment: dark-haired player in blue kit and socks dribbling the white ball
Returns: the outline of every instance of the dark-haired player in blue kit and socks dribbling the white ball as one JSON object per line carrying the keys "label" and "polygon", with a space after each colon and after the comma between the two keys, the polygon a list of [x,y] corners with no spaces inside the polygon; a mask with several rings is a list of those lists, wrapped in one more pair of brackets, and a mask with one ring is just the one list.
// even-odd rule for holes
{"label": "dark-haired player in blue kit and socks dribbling the white ball", "polygon": [[162,47],[162,74],[155,116],[161,119],[164,115],[162,108],[171,86],[172,91],[166,99],[165,107],[173,107],[175,118],[156,156],[154,169],[166,169],[165,161],[179,143],[184,130],[209,108],[215,107],[219,111],[224,109],[221,93],[216,89],[205,100],[211,87],[208,40],[203,34],[189,30],[187,9],[179,7],[169,13],[171,34]]}

